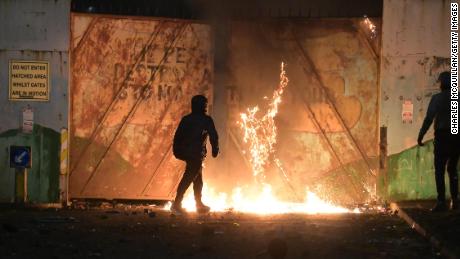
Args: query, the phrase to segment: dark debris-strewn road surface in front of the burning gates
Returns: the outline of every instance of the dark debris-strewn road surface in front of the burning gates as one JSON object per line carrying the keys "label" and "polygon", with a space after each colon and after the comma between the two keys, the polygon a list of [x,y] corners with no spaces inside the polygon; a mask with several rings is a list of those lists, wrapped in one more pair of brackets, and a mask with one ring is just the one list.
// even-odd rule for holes
{"label": "dark debris-strewn road surface in front of the burning gates", "polygon": [[384,213],[179,218],[145,210],[2,209],[0,257],[439,258],[401,219]]}

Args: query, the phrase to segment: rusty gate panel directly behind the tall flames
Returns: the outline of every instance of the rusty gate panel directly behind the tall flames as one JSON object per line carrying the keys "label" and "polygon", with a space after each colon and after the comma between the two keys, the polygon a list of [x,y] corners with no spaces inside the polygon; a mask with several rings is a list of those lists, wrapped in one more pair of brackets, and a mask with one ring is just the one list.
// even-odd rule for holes
{"label": "rusty gate panel directly behind the tall flames", "polygon": [[372,195],[379,41],[362,29],[358,19],[232,24],[229,131],[241,136],[238,114],[271,96],[287,62],[277,156],[299,193],[308,186],[341,203]]}

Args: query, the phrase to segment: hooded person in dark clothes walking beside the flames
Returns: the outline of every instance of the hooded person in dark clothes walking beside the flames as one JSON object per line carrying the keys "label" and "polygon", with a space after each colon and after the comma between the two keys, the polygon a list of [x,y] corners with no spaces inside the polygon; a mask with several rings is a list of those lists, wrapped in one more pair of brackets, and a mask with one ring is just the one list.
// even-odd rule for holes
{"label": "hooded person in dark clothes walking beside the flames", "polygon": [[176,198],[171,206],[171,212],[176,215],[185,213],[182,208],[182,199],[192,182],[197,212],[206,213],[210,210],[201,200],[203,189],[202,163],[207,153],[206,139],[208,135],[213,157],[217,157],[219,154],[219,141],[214,121],[206,114],[207,105],[208,100],[205,96],[194,96],[192,98],[192,113],[182,118],[174,134],[174,156],[186,163],[185,173],[177,187]]}

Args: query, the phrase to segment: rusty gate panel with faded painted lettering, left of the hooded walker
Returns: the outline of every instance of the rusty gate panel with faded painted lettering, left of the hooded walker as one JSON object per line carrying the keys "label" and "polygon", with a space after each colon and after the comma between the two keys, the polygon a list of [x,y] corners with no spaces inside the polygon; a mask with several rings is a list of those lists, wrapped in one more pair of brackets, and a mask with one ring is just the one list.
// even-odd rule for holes
{"label": "rusty gate panel with faded painted lettering, left of the hooded walker", "polygon": [[212,98],[209,26],[73,14],[71,29],[70,197],[173,198],[174,130]]}

